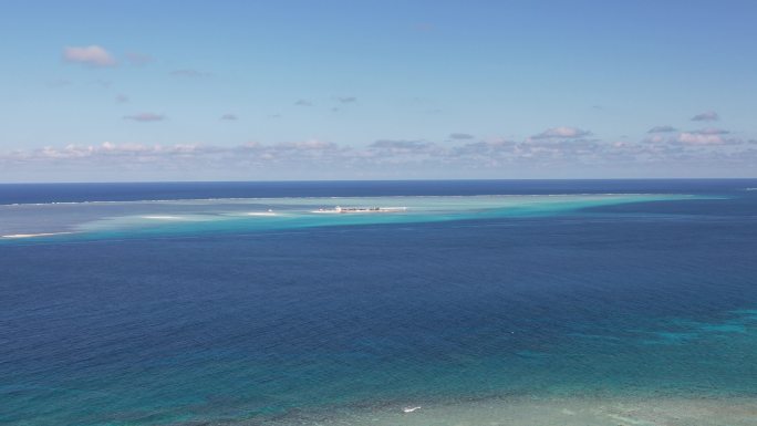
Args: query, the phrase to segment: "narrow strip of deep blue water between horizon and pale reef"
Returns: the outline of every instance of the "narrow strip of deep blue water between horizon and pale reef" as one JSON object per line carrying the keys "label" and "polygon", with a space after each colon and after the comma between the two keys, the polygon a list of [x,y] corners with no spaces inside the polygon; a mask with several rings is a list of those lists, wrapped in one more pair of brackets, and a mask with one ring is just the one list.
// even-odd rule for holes
{"label": "narrow strip of deep blue water between horizon and pale reef", "polygon": [[0,205],[197,198],[375,197],[495,194],[719,194],[754,187],[755,179],[650,180],[342,180],[123,184],[0,184]]}

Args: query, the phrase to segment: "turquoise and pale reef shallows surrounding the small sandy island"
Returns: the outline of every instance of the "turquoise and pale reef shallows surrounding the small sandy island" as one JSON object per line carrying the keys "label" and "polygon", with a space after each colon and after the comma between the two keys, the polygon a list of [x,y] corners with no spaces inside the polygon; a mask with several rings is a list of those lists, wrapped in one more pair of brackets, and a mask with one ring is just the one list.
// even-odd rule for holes
{"label": "turquoise and pale reef shallows surrounding the small sandy island", "polygon": [[0,212],[10,218],[0,228],[0,243],[538,217],[628,202],[694,198],[712,196],[579,194],[15,204],[0,206]]}

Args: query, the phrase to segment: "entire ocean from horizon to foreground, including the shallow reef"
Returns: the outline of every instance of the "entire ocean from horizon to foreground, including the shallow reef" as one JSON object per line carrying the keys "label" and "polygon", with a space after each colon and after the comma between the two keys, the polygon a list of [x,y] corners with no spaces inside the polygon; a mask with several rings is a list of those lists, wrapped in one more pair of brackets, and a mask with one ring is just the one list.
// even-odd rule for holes
{"label": "entire ocean from horizon to foreground, including the shallow reef", "polygon": [[754,425],[757,179],[0,185],[0,424]]}

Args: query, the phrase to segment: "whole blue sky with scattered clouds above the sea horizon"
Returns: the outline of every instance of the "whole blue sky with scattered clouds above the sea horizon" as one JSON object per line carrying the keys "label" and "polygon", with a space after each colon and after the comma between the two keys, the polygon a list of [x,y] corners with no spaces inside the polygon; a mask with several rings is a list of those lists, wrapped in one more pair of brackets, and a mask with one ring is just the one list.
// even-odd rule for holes
{"label": "whole blue sky with scattered clouds above the sea horizon", "polygon": [[0,181],[754,177],[754,1],[4,1]]}

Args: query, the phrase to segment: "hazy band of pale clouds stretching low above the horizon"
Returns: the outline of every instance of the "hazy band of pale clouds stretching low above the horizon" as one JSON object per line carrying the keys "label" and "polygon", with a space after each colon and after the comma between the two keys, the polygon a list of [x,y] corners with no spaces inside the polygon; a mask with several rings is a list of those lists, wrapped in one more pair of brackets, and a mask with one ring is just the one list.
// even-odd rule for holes
{"label": "hazy band of pale clouds stretching low above the horizon", "polygon": [[[151,118],[153,120],[153,118]],[[155,118],[158,120],[158,118]],[[162,118],[160,118],[162,120]],[[559,128],[559,127],[558,127]],[[728,137],[728,132],[705,128],[656,133],[639,142],[603,142],[579,138],[588,131],[545,131],[549,137],[377,139],[364,146],[339,145],[319,139],[236,146],[211,144],[113,144],[51,146],[0,153],[6,168],[29,166],[97,168],[198,168],[373,170],[445,169],[464,172],[549,167],[665,167],[719,162],[734,167],[757,166],[757,141]],[[558,134],[562,134],[560,137]]]}

